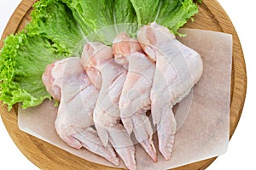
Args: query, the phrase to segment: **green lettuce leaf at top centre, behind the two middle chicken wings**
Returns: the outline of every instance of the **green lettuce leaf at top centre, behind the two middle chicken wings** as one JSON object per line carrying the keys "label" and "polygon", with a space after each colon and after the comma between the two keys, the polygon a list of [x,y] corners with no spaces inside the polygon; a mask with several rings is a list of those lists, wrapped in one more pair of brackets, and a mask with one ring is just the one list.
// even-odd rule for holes
{"label": "green lettuce leaf at top centre, behind the two middle chicken wings", "polygon": [[[137,31],[137,15],[130,0],[62,0],[73,11],[87,41],[111,45],[120,32]],[[126,24],[125,24],[126,23]],[[129,25],[128,25],[129,24]]]}

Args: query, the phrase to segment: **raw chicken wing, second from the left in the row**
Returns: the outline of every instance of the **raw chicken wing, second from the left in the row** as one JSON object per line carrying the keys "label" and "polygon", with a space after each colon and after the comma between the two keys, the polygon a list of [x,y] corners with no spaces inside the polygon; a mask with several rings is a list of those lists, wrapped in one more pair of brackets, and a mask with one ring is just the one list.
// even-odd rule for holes
{"label": "raw chicken wing, second from the left in the row", "polygon": [[100,42],[87,43],[81,59],[90,80],[96,87],[101,86],[93,112],[96,131],[104,145],[110,141],[126,167],[136,169],[135,148],[119,116],[119,96],[126,71],[114,61],[112,48]]}

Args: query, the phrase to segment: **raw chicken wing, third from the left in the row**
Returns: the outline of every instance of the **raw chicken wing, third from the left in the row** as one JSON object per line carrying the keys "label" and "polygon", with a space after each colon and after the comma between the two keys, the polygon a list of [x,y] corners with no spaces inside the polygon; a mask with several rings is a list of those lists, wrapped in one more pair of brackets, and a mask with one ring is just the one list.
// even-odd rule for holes
{"label": "raw chicken wing, third from the left in the row", "polygon": [[127,69],[124,88],[119,99],[120,117],[128,133],[134,132],[137,141],[148,155],[157,161],[152,141],[153,130],[146,112],[150,110],[155,64],[144,54],[137,40],[120,33],[113,40],[117,63]]}

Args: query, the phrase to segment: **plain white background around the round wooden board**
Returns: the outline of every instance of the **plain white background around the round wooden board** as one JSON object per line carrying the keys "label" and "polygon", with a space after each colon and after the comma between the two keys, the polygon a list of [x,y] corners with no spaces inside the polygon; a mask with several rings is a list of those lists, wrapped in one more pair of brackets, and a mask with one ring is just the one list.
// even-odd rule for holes
{"label": "plain white background around the round wooden board", "polygon": [[[256,169],[256,56],[255,55],[255,5],[252,0],[218,0],[233,21],[240,37],[247,62],[247,99],[241,120],[230,141],[228,151],[219,156],[207,170]],[[0,35],[20,0],[0,0]],[[43,160],[42,160],[43,161]],[[32,162],[23,156],[10,139],[0,119],[0,169],[36,170]]]}

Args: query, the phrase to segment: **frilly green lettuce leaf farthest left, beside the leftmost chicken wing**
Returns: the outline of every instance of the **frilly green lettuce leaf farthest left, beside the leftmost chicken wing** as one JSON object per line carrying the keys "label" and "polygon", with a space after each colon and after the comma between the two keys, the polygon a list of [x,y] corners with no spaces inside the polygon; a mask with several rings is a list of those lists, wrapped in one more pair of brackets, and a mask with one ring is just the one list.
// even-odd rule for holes
{"label": "frilly green lettuce leaf farthest left, beside the leftmost chicken wing", "polygon": [[18,102],[26,108],[50,98],[42,74],[46,65],[64,56],[55,54],[46,38],[24,32],[11,35],[4,41],[0,56],[0,100],[9,110]]}

